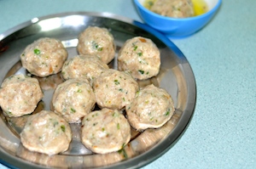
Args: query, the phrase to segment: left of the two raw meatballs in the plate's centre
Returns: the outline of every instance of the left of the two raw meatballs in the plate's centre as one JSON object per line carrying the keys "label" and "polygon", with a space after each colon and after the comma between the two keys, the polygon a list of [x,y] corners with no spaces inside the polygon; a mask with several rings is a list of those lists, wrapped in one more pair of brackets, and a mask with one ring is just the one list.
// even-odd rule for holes
{"label": "left of the two raw meatballs in the plate's centre", "polygon": [[69,79],[61,83],[52,97],[52,109],[69,123],[80,122],[95,104],[95,95],[86,79]]}

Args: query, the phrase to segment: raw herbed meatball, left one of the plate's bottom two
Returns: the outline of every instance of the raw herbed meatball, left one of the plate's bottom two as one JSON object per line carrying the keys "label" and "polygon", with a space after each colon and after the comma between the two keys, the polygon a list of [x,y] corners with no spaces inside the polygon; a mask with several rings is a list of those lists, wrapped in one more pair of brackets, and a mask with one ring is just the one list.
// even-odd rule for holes
{"label": "raw herbed meatball, left one of the plate's bottom two", "polygon": [[20,132],[20,141],[31,151],[55,155],[68,149],[71,129],[61,116],[42,110],[31,115]]}

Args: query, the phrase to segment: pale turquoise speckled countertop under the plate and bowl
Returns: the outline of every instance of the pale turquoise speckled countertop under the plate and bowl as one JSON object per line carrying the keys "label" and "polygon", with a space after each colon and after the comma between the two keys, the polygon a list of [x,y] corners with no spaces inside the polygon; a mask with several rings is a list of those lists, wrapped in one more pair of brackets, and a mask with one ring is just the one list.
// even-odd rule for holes
{"label": "pale turquoise speckled countertop under the plate and bowl", "polygon": [[[131,0],[0,0],[0,7],[0,34],[63,12],[108,12],[143,22]],[[172,149],[143,168],[256,168],[255,7],[255,0],[223,0],[204,29],[171,39],[195,74],[195,112]]]}

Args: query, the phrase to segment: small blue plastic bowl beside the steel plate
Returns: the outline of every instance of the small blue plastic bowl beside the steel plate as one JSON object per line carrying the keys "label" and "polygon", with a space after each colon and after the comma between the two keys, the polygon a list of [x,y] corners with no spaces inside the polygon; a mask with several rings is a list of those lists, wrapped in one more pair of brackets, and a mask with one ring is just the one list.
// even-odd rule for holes
{"label": "small blue plastic bowl beside the steel plate", "polygon": [[222,0],[205,0],[209,9],[207,13],[189,18],[171,18],[155,14],[143,7],[144,1],[134,0],[138,14],[145,23],[166,34],[167,37],[187,37],[201,30],[212,19],[222,2]]}

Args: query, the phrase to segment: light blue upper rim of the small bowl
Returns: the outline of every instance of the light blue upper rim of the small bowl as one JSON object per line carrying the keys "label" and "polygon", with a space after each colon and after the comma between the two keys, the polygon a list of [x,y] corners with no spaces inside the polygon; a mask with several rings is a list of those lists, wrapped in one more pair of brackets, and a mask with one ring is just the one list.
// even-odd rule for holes
{"label": "light blue upper rim of the small bowl", "polygon": [[152,11],[149,10],[148,8],[145,8],[145,7],[143,6],[143,4],[139,2],[139,0],[134,0],[134,3],[136,3],[136,5],[137,5],[138,8],[143,9],[143,10],[144,10],[145,12],[147,12],[148,14],[151,14],[151,15],[153,15],[154,17],[157,17],[157,18],[159,18],[159,19],[161,19],[161,20],[170,20],[170,21],[171,21],[171,20],[172,20],[172,21],[175,21],[175,20],[181,21],[181,20],[183,20],[183,21],[186,21],[186,20],[198,20],[198,19],[201,19],[201,18],[206,17],[206,16],[209,15],[209,14],[214,13],[214,12],[219,8],[220,4],[222,3],[222,0],[218,0],[218,3],[216,3],[216,5],[215,5],[211,10],[207,11],[207,13],[205,13],[205,14],[200,14],[200,15],[197,15],[197,16],[188,17],[188,18],[172,18],[172,17],[168,17],[168,16],[163,16],[163,15],[156,14],[156,13],[152,12]]}

